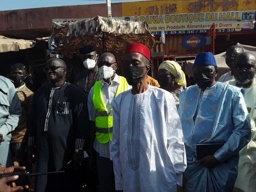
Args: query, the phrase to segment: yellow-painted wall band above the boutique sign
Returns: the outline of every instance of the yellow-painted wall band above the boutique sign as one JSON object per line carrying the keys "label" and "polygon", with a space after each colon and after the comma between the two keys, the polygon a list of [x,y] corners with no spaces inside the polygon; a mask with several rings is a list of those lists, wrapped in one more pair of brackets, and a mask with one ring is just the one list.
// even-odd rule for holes
{"label": "yellow-painted wall band above the boutique sign", "polygon": [[122,3],[122,17],[256,10],[255,1],[159,0]]}

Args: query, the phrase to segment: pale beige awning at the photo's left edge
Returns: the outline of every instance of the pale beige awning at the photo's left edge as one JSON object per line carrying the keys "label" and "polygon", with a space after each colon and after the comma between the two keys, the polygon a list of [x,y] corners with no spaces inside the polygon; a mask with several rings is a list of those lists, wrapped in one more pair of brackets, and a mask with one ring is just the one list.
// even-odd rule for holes
{"label": "pale beige awning at the photo's left edge", "polygon": [[35,44],[33,40],[13,39],[0,35],[0,53],[28,49]]}

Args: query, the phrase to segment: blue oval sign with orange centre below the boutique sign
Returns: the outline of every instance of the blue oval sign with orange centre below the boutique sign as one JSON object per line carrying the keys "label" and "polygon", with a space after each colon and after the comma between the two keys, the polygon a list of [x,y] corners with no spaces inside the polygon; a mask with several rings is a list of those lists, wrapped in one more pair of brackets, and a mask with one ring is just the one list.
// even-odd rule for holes
{"label": "blue oval sign with orange centre below the boutique sign", "polygon": [[182,40],[182,45],[187,49],[198,49],[206,44],[206,38],[202,35],[188,35]]}

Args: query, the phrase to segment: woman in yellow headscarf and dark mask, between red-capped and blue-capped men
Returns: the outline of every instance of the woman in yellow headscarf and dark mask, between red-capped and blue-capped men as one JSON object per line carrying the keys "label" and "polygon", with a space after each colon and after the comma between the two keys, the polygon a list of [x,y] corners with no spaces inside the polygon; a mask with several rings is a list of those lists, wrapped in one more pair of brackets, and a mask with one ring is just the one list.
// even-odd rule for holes
{"label": "woman in yellow headscarf and dark mask, between red-capped and blue-capped men", "polygon": [[162,89],[172,93],[178,109],[180,92],[187,85],[185,74],[179,63],[169,60],[162,62],[158,68],[157,81]]}

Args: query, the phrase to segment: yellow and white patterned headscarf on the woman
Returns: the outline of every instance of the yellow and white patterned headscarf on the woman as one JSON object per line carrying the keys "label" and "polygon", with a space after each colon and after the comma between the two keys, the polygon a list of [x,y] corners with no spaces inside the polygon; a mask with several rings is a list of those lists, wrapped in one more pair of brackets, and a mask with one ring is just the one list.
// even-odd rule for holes
{"label": "yellow and white patterned headscarf on the woman", "polygon": [[175,77],[175,82],[181,86],[187,86],[185,73],[182,71],[179,63],[175,61],[164,61],[160,64],[159,69],[165,69]]}

